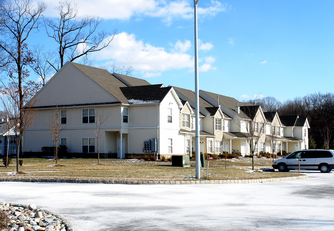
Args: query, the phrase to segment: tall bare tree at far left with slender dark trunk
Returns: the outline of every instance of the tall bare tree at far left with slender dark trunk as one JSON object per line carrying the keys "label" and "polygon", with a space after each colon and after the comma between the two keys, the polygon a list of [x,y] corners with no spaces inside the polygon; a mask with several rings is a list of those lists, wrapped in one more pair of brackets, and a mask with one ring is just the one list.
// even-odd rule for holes
{"label": "tall bare tree at far left with slender dark trunk", "polygon": [[[0,52],[6,54],[6,59],[11,64],[6,65],[11,83],[15,83],[17,86],[18,110],[20,112],[20,140],[17,142],[20,143],[25,129],[24,100],[27,97],[24,95],[23,85],[26,77],[29,76],[26,67],[34,62],[26,42],[30,32],[38,29],[38,22],[46,5],[39,2],[34,7],[30,0],[13,0],[7,1],[0,7],[2,12]],[[32,86],[33,82],[29,82]]]}

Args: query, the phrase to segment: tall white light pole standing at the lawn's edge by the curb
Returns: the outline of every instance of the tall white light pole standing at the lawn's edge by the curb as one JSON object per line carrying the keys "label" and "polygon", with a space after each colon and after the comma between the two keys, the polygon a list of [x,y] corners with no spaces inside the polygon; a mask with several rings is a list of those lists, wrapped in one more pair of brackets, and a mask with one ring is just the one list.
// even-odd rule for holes
{"label": "tall white light pole standing at the lawn's edge by the curb", "polygon": [[194,0],[195,14],[195,151],[196,151],[196,179],[200,179],[200,152],[199,152],[199,92],[198,92],[198,39],[197,39],[197,4]]}

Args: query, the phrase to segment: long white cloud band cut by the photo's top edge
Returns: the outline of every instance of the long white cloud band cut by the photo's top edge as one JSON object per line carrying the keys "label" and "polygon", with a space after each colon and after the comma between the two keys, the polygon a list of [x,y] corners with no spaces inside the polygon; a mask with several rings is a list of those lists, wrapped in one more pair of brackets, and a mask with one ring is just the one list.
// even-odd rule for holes
{"label": "long white cloud band cut by the photo's top edge", "polygon": [[[193,2],[187,0],[95,0],[94,4],[90,0],[72,1],[79,8],[79,16],[92,15],[102,19],[118,20],[128,20],[133,16],[150,16],[159,17],[167,24],[171,24],[175,19],[190,20],[194,17]],[[44,2],[48,5],[44,15],[58,16],[54,8],[58,6],[59,1],[44,0]],[[209,7],[198,7],[198,14],[201,17],[214,16],[227,11],[228,8],[228,5],[212,0]]]}

